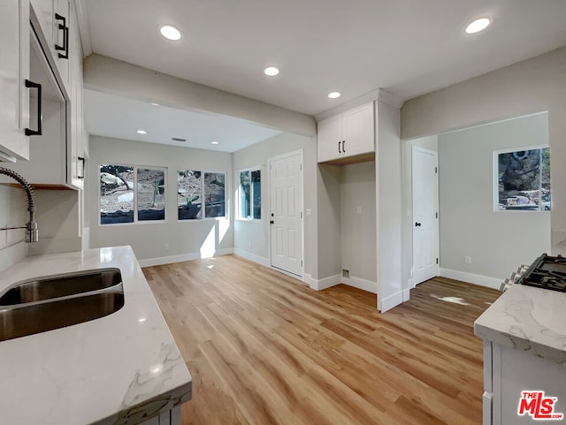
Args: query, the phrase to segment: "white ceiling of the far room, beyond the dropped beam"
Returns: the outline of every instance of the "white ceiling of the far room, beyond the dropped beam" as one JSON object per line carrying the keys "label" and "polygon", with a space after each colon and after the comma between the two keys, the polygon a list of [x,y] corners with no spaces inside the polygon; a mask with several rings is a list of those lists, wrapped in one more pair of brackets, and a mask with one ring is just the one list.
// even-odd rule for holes
{"label": "white ceiling of the far room, beyond the dropped beam", "polygon": [[[241,118],[154,106],[93,90],[84,93],[87,131],[99,136],[235,152],[281,133]],[[187,141],[173,141],[173,137]],[[211,145],[213,140],[218,145]]]}

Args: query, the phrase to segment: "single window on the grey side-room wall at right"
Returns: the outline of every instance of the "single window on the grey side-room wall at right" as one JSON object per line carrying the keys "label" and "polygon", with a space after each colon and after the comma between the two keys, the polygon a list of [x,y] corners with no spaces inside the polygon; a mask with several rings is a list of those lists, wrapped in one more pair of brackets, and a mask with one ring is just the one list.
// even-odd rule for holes
{"label": "single window on the grey side-room wall at right", "polygon": [[550,210],[550,150],[495,152],[496,210]]}

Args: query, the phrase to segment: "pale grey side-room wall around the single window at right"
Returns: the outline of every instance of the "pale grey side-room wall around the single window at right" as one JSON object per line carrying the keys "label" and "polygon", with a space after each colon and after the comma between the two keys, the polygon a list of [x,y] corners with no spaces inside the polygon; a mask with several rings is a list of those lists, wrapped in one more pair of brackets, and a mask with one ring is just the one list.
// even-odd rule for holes
{"label": "pale grey side-room wall around the single window at right", "polygon": [[502,280],[520,263],[549,252],[550,212],[493,211],[493,151],[547,144],[547,114],[440,134],[438,140],[440,267]]}

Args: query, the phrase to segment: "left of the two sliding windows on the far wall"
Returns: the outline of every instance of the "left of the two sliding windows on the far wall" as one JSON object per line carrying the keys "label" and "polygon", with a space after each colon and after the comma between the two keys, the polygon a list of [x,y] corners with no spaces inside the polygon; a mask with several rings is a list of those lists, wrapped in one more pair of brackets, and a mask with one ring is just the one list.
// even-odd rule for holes
{"label": "left of the two sliding windows on the far wall", "polygon": [[164,169],[100,165],[100,224],[164,219]]}

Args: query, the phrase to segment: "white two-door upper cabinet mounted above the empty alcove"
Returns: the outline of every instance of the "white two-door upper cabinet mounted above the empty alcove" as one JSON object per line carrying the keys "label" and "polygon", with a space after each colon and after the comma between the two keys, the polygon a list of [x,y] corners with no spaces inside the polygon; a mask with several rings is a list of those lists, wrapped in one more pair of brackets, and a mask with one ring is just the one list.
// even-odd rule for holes
{"label": "white two-door upper cabinet mounted above the empty alcove", "polygon": [[375,152],[373,102],[318,122],[318,162],[352,159]]}

